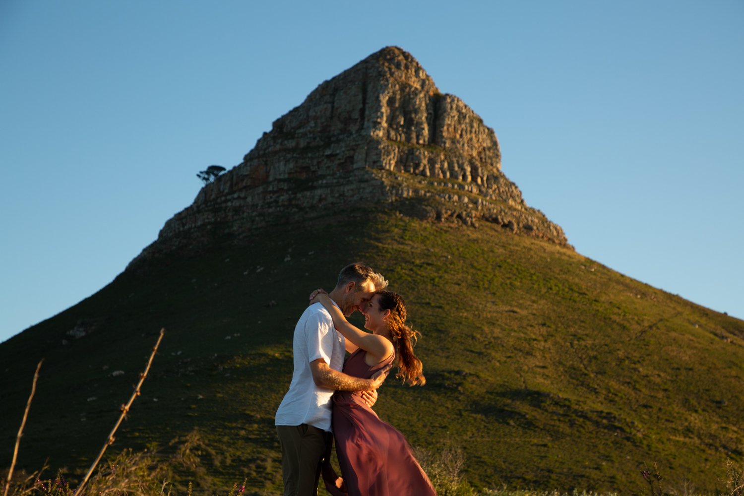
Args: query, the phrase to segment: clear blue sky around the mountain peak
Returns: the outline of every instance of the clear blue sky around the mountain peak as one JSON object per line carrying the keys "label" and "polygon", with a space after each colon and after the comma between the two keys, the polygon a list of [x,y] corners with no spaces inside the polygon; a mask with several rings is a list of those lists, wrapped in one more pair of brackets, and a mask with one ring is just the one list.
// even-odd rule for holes
{"label": "clear blue sky around the mountain peak", "polygon": [[577,251],[744,318],[744,2],[0,2],[0,341],[97,292],[324,80],[409,51]]}

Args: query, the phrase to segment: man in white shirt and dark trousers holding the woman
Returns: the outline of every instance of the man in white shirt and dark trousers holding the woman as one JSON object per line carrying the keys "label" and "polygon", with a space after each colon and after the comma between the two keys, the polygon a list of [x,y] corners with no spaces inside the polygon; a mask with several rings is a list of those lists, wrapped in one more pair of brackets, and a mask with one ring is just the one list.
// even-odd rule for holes
{"label": "man in white shirt and dark trousers holding the woman", "polygon": [[[336,288],[328,295],[347,317],[365,308],[374,292],[388,281],[367,265],[353,263],[341,269]],[[275,425],[282,451],[284,496],[318,494],[318,478],[330,442],[331,396],[336,390],[376,390],[384,373],[371,379],[341,373],[344,336],[336,332],[333,319],[320,303],[308,306],[295,326],[292,341],[295,370],[289,391],[276,413]],[[376,393],[368,400],[376,400]]]}

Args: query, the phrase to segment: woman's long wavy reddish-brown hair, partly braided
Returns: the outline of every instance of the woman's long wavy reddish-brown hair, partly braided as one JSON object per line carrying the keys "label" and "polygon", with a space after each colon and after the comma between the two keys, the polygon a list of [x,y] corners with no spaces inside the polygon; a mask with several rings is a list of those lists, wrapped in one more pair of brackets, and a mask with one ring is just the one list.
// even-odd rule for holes
{"label": "woman's long wavy reddish-brown hair, partly braided", "polygon": [[385,319],[390,329],[390,340],[393,342],[395,352],[398,355],[398,373],[395,375],[409,385],[426,384],[423,376],[423,364],[414,355],[414,345],[421,335],[417,330],[411,329],[405,324],[408,316],[405,312],[405,301],[400,294],[391,291],[376,292],[379,295],[378,304],[381,310],[390,310],[390,315]]}

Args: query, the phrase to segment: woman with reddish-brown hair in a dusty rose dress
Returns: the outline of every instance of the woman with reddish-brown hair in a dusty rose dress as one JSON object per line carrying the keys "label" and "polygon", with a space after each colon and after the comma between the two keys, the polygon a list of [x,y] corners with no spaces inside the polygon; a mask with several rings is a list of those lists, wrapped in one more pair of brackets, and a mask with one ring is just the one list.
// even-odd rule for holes
{"label": "woman with reddish-brown hair in a dusty rose dress", "polygon": [[[373,295],[362,310],[365,328],[371,333],[350,324],[323,290],[310,297],[310,303],[321,303],[330,312],[336,330],[347,339],[347,350],[352,354],[344,363],[344,373],[370,378],[378,370],[392,367],[397,356],[396,377],[411,386],[426,383],[421,361],[413,351],[419,333],[405,325],[405,302],[400,295],[389,291]],[[333,437],[349,495],[437,494],[403,434],[382,422],[362,400],[361,392],[337,391],[333,395]],[[324,470],[324,477],[327,473]],[[334,486],[326,479],[331,494],[345,494],[336,489],[340,484]]]}

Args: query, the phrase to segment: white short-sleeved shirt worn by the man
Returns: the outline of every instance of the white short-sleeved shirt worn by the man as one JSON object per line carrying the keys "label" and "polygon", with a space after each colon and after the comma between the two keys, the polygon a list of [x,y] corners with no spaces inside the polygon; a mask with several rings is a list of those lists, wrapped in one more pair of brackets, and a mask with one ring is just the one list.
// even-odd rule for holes
{"label": "white short-sleeved shirt worn by the man", "polygon": [[331,430],[330,397],[334,391],[315,384],[310,362],[323,358],[330,368],[340,372],[344,367],[345,349],[344,336],[336,332],[324,306],[320,303],[308,306],[295,326],[292,341],[295,370],[289,391],[277,409],[275,425],[308,424],[324,431]]}

